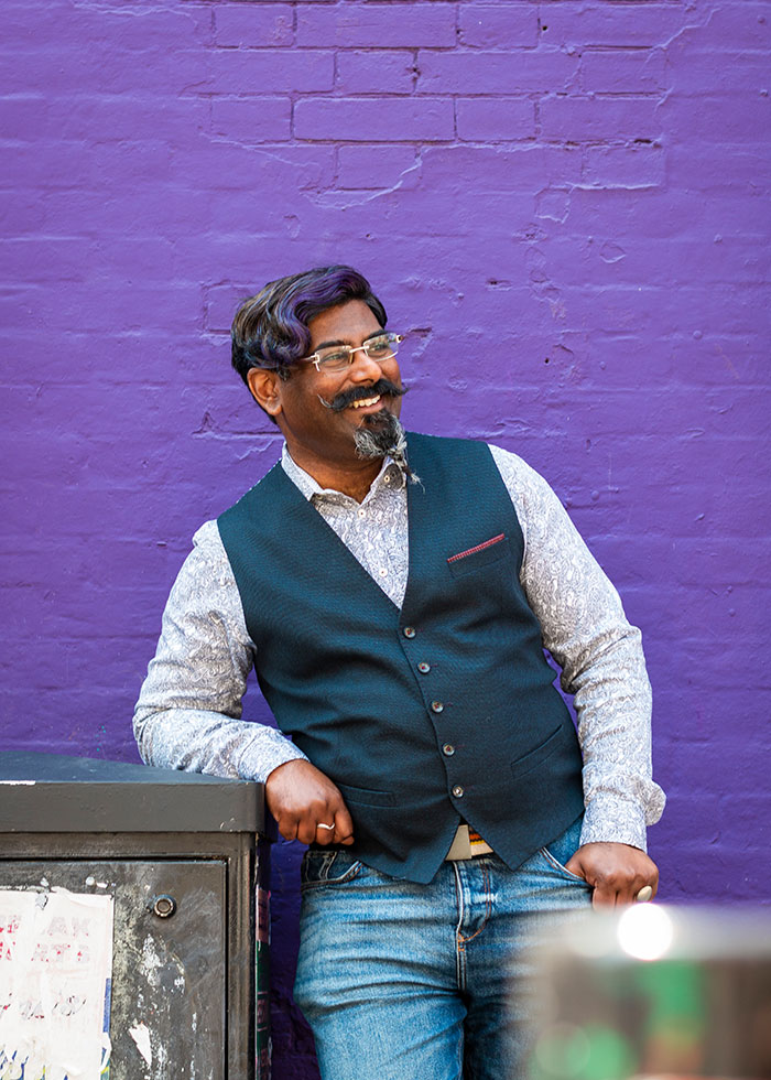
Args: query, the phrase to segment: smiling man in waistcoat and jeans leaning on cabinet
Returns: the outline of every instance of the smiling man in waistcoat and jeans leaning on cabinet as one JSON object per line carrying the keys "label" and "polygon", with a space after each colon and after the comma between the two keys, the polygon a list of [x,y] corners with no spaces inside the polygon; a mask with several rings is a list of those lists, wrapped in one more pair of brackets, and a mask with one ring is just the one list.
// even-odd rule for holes
{"label": "smiling man in waistcoat and jeans leaning on cabinet", "polygon": [[[283,456],[196,533],[135,732],[153,765],[263,780],[312,845],[295,996],[326,1080],[502,1080],[523,926],[655,892],[649,683],[545,482],[404,433],[386,326],[348,267],[239,309],[234,366]],[[252,665],[281,732],[240,720]]]}

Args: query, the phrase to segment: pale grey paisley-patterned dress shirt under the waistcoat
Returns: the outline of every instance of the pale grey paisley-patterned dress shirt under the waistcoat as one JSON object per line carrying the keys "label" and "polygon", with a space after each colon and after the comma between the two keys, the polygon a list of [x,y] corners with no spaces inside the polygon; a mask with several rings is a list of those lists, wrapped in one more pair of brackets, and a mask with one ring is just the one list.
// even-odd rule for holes
{"label": "pale grey paisley-patterned dress shirt under the waistcoat", "polygon": [[[520,581],[543,644],[574,694],[584,755],[582,843],[645,850],[664,795],[651,779],[651,692],[640,644],[618,593],[546,482],[490,446],[524,536]],[[401,608],[406,587],[406,479],[389,458],[359,504],[323,489],[283,449],[281,464],[340,540]],[[469,493],[469,497],[471,497]],[[280,731],[241,719],[254,663],[241,600],[216,521],[193,538],[172,588],[158,651],[134,714],[148,764],[264,781],[305,755]]]}

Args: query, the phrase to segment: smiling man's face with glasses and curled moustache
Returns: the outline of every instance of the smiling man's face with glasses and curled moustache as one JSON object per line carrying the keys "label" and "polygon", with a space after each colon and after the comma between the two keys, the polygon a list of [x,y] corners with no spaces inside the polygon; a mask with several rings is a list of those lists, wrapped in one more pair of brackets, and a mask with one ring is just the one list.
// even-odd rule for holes
{"label": "smiling man's face with glasses and curled moustache", "polygon": [[[380,330],[367,304],[350,300],[311,320],[308,354],[335,345],[363,345]],[[372,389],[381,379],[401,388],[397,358],[378,363],[362,352],[355,353],[354,363],[343,371],[326,372],[323,366],[317,371],[314,364],[305,363],[296,365],[285,382],[275,379],[274,415],[298,465],[313,474],[313,464],[328,468],[356,461],[356,429],[376,428],[383,411],[397,417],[401,411],[401,397]],[[336,408],[340,395],[356,401]]]}

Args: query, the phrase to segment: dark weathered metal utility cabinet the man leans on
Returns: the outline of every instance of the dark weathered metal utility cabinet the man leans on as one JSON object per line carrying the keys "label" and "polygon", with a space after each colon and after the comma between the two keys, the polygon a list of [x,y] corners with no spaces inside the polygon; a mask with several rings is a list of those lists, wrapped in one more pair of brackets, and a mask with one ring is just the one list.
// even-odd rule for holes
{"label": "dark weathered metal utility cabinet the man leans on", "polygon": [[261,785],[0,754],[0,889],[113,898],[109,1080],[268,1080],[263,825]]}

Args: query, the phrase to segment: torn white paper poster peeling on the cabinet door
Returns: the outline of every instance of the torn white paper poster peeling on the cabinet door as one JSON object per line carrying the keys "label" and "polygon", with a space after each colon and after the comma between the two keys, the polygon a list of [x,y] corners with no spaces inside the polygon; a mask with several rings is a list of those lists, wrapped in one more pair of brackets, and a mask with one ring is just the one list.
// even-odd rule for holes
{"label": "torn white paper poster peeling on the cabinet door", "polygon": [[112,907],[109,895],[0,889],[0,1080],[100,1080]]}

